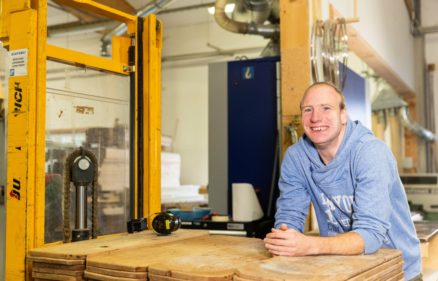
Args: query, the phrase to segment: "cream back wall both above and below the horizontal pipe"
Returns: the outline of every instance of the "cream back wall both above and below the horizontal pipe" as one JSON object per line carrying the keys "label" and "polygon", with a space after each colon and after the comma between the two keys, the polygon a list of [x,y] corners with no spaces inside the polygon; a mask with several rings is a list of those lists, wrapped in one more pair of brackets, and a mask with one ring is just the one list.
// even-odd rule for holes
{"label": "cream back wall both above and below the horizontal pipe", "polygon": [[[234,34],[220,28],[207,10],[208,21],[166,28],[163,23],[162,57],[213,52],[207,44],[222,50],[263,47],[268,40],[256,35]],[[168,16],[166,14],[166,16]],[[244,53],[249,59],[260,52]],[[208,184],[208,63],[233,61],[235,56],[214,56],[162,63],[162,134],[175,138],[173,152],[181,154],[181,184]],[[175,126],[177,125],[177,132]],[[170,151],[166,148],[166,151]]]}

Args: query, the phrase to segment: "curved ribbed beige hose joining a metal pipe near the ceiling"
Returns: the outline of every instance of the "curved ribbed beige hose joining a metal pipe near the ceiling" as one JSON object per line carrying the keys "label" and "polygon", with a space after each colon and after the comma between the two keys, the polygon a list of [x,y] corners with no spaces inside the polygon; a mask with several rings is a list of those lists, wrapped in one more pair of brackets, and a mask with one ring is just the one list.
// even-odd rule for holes
{"label": "curved ribbed beige hose joining a metal pipe near the ceiling", "polygon": [[[261,35],[265,38],[273,38],[280,35],[280,27],[278,24],[250,24],[230,19],[225,13],[225,6],[228,1],[229,0],[217,0],[215,3],[215,20],[221,28],[234,33]],[[270,0],[246,1],[251,2],[251,7],[254,10],[260,8],[260,10],[269,9],[270,11],[271,9],[271,6],[266,4],[267,2],[270,2]]]}

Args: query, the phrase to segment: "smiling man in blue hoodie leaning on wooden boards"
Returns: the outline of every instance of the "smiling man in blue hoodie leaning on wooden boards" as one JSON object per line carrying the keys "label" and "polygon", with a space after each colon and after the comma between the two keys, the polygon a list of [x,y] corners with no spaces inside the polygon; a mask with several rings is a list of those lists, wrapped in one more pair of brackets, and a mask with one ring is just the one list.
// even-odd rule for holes
{"label": "smiling man in blue hoodie leaning on wooden boards", "polygon": [[[274,256],[403,252],[406,280],[422,280],[420,241],[397,163],[384,142],[348,119],[343,94],[319,82],[300,103],[304,135],[283,158],[275,229],[265,238]],[[304,236],[313,202],[321,237]]]}

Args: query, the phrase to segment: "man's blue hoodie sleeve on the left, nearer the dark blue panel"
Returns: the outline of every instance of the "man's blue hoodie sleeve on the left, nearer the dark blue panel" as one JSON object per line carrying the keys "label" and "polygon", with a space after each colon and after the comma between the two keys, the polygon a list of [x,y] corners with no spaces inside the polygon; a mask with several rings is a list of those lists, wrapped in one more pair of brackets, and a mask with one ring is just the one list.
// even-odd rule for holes
{"label": "man's blue hoodie sleeve on the left, nearer the dark blue panel", "polygon": [[279,229],[285,223],[287,228],[303,233],[309,212],[310,196],[304,184],[304,173],[297,163],[299,163],[297,154],[293,153],[291,146],[287,149],[281,165],[280,197],[277,200],[274,227]]}

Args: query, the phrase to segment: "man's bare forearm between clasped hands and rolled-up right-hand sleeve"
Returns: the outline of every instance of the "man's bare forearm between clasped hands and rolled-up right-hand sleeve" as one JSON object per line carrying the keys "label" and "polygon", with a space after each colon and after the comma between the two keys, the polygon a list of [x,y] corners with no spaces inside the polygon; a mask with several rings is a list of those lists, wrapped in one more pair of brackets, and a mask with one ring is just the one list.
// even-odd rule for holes
{"label": "man's bare forearm between clasped hands and rolled-up right-hand sleeve", "polygon": [[356,232],[313,238],[317,255],[358,255],[365,252],[364,240]]}

